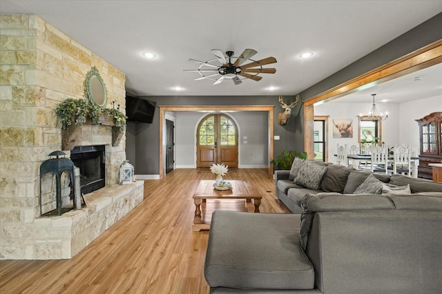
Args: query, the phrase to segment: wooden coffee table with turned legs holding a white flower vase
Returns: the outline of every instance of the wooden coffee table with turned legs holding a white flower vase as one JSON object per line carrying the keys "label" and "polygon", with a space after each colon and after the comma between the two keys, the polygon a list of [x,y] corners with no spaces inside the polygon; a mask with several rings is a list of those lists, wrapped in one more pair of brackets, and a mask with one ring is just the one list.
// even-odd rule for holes
{"label": "wooden coffee table with turned legs holding a white flower vase", "polygon": [[193,202],[195,203],[195,217],[193,218],[193,231],[201,231],[210,229],[210,223],[204,222],[202,218],[201,202],[206,202],[207,199],[244,199],[251,202],[255,206],[254,212],[260,212],[260,204],[262,196],[260,193],[249,184],[242,180],[229,180],[232,189],[216,190],[213,188],[214,180],[201,180],[193,194]]}

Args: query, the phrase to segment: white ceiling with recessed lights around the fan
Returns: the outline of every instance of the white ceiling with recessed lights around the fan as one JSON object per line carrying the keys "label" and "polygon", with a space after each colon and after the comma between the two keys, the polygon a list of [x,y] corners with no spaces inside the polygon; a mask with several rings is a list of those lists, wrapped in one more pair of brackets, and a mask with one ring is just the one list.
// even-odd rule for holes
{"label": "white ceiling with recessed lights around the fan", "polygon": [[[307,89],[442,12],[442,1],[1,0],[0,12],[39,14],[124,72],[131,94],[256,96]],[[212,85],[209,79],[193,81],[198,72],[184,72],[198,68],[188,59],[214,59],[211,49],[239,56],[246,48],[258,51],[254,60],[274,56],[278,63],[264,67],[275,67],[276,74]],[[144,51],[155,52],[157,59],[144,59]],[[314,56],[299,59],[305,51]],[[421,84],[434,74],[426,71]],[[440,93],[441,67],[436,74]],[[403,78],[394,80],[398,85],[382,84],[376,98],[388,99],[392,90],[411,97],[410,90],[401,92],[410,82]],[[177,86],[184,90],[176,92]],[[270,92],[271,86],[277,90]],[[368,101],[373,90],[363,94]]]}

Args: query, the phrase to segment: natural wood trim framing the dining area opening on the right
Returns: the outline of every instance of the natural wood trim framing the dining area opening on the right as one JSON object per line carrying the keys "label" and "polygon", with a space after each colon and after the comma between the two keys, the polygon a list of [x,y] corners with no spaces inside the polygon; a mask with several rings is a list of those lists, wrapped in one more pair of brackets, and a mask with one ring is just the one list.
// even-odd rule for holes
{"label": "natural wood trim framing the dining area opening on the right", "polygon": [[314,154],[313,134],[309,132],[314,122],[314,105],[333,101],[439,63],[442,63],[442,39],[303,101],[304,151],[307,151],[309,159],[313,159]]}

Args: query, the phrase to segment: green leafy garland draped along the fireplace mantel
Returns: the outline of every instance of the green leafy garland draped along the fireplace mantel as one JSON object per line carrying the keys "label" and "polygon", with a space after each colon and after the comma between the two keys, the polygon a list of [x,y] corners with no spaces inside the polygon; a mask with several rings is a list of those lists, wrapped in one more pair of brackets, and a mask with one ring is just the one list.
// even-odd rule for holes
{"label": "green leafy garland draped along the fireplace mantel", "polygon": [[55,114],[61,123],[61,129],[67,129],[73,123],[75,118],[75,125],[81,126],[86,122],[86,118],[90,118],[92,123],[99,123],[100,114],[108,114],[113,116],[113,123],[115,127],[126,129],[126,116],[118,109],[101,108],[87,103],[84,99],[67,98],[55,107]]}

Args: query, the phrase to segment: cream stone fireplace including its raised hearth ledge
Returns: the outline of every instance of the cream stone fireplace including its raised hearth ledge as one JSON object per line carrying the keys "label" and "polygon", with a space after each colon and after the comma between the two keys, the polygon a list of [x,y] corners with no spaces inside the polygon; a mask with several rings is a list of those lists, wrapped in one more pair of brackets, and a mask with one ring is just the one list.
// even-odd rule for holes
{"label": "cream stone fireplace including its raised hearth ledge", "polygon": [[106,107],[115,101],[124,109],[125,76],[35,14],[1,14],[0,26],[0,259],[72,258],[143,200],[143,182],[117,185],[125,136],[113,146],[111,126],[85,124],[75,145],[102,146],[104,187],[87,193],[80,210],[41,217],[39,167],[62,150],[54,108],[84,98],[84,78],[95,66]]}

